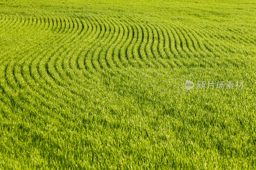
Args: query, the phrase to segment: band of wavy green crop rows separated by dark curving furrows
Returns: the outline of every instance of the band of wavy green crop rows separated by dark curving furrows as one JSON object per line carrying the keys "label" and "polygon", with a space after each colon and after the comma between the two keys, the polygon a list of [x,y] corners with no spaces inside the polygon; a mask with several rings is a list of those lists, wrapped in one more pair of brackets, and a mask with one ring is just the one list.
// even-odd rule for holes
{"label": "band of wavy green crop rows separated by dark curving furrows", "polygon": [[[214,57],[253,55],[252,29],[202,31],[197,26],[148,22],[130,16],[89,14],[71,18],[1,14],[2,37],[10,43],[20,43],[15,48],[5,47],[0,54],[3,66],[0,89],[10,100],[16,99],[15,95],[19,96],[21,90],[42,99],[52,94],[47,97],[51,101],[58,99],[56,93],[61,91],[67,95],[59,99],[60,103],[72,103],[74,98],[86,101],[84,77],[97,71],[124,67],[211,66]],[[74,88],[67,88],[70,86]],[[20,98],[24,107],[28,102],[38,104],[28,101],[25,95]],[[43,103],[45,108],[50,108],[49,105],[58,106],[54,102]]]}

